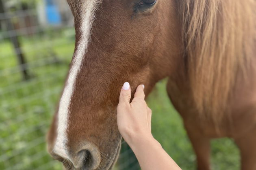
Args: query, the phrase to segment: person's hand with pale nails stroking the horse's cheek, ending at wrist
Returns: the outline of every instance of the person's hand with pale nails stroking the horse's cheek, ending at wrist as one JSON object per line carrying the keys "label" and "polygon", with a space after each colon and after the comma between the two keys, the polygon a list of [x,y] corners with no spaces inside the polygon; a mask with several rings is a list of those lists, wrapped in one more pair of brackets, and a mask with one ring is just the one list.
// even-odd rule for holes
{"label": "person's hand with pale nails stroking the horse's cheek, ending at wrist", "polygon": [[124,83],[117,106],[117,126],[124,140],[131,146],[141,138],[152,138],[152,112],[145,102],[144,85],[139,85],[130,103],[131,89]]}

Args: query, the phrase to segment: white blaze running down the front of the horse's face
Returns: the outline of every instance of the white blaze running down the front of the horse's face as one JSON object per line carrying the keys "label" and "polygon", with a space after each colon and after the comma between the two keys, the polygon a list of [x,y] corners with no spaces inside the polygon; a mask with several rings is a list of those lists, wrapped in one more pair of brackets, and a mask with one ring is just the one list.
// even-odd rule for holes
{"label": "white blaze running down the front of the horse's face", "polygon": [[98,4],[98,0],[80,0],[80,41],[78,43],[77,50],[74,54],[74,60],[72,67],[69,70],[69,76],[66,82],[66,86],[61,96],[58,112],[58,127],[57,138],[54,145],[54,152],[62,157],[67,156],[67,125],[69,117],[69,105],[75,89],[75,82],[77,75],[81,69],[83,56],[87,53],[87,46],[90,40],[90,32],[94,19],[95,8]]}

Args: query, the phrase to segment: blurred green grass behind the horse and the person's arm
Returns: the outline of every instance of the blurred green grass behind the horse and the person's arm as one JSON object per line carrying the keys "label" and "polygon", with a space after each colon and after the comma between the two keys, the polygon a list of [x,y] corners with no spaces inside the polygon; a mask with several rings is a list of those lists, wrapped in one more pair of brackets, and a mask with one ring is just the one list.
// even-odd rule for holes
{"label": "blurred green grass behind the horse and the person's arm", "polygon": [[[0,42],[1,170],[62,169],[46,152],[45,134],[74,49],[74,35],[67,36],[70,32],[73,30],[20,38],[29,66],[35,66],[29,69],[32,78],[28,81],[22,81],[11,44]],[[54,62],[53,55],[62,62]],[[165,85],[165,80],[159,82],[147,100],[153,112],[152,133],[183,170],[193,170],[195,155]],[[239,169],[239,151],[232,140],[217,139],[211,145],[214,170]],[[136,159],[127,149],[124,144],[115,169],[138,169]]]}

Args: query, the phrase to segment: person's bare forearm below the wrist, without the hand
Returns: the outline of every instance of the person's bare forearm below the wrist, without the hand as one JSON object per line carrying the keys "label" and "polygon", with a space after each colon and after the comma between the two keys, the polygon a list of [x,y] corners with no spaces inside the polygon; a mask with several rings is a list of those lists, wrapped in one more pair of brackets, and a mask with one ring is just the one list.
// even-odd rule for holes
{"label": "person's bare forearm below the wrist, without the hand", "polygon": [[142,170],[180,170],[180,167],[165,152],[152,136],[140,136],[130,144]]}

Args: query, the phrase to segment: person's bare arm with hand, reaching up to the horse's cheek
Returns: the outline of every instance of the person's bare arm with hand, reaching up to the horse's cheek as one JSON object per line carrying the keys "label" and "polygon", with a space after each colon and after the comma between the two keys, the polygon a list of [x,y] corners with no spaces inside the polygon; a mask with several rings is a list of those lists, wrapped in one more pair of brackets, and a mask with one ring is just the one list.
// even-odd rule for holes
{"label": "person's bare arm with hand, reaching up to the horse's cheek", "polygon": [[142,170],[180,170],[151,134],[151,110],[139,85],[130,103],[130,85],[125,83],[117,107],[117,125],[124,140],[135,153]]}

